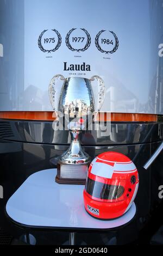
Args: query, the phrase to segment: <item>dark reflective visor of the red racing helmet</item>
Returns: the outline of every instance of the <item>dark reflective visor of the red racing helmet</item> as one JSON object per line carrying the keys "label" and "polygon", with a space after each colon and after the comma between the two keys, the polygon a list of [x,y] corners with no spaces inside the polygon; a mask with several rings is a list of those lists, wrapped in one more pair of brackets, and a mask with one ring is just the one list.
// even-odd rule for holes
{"label": "dark reflective visor of the red racing helmet", "polygon": [[120,183],[120,181],[115,180],[114,184],[116,185],[110,185],[87,177],[85,190],[92,197],[104,200],[115,200],[120,198],[124,193],[124,187],[118,183]]}

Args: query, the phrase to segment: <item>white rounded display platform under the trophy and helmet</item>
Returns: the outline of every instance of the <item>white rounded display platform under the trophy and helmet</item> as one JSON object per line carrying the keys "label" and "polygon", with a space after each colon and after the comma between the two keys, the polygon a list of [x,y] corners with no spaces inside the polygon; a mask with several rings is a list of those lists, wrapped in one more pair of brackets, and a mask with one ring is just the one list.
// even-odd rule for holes
{"label": "white rounded display platform under the trophy and helmet", "polygon": [[34,227],[110,229],[129,222],[136,213],[133,203],[122,217],[103,221],[84,209],[84,185],[55,182],[57,169],[41,170],[24,181],[6,205],[8,216],[17,223]]}

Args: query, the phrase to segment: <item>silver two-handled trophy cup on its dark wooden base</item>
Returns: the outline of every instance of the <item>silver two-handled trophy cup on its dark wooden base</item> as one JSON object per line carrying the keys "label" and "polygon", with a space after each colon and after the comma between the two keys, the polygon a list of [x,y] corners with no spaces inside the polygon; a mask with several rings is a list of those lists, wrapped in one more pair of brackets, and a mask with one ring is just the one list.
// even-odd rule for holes
{"label": "silver two-handled trophy cup on its dark wooden base", "polygon": [[60,157],[55,181],[60,184],[85,184],[90,156],[83,151],[80,137],[82,130],[86,129],[86,124],[92,121],[93,113],[95,113],[95,99],[91,82],[97,80],[99,85],[97,113],[104,102],[104,82],[99,76],[87,79],[82,77],[64,78],[62,75],[55,75],[49,83],[49,99],[54,111],[57,80],[63,81],[57,110],[62,113],[65,123],[67,121],[67,127],[71,133],[71,145]]}

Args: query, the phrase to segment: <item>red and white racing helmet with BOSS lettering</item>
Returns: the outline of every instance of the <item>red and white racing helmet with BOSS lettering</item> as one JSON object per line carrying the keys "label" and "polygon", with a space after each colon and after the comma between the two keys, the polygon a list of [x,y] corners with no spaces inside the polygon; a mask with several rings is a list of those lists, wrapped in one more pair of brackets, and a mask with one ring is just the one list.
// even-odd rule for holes
{"label": "red and white racing helmet with BOSS lettering", "polygon": [[109,220],[125,214],[139,187],[135,164],[125,155],[106,152],[90,164],[83,192],[86,211],[93,217]]}

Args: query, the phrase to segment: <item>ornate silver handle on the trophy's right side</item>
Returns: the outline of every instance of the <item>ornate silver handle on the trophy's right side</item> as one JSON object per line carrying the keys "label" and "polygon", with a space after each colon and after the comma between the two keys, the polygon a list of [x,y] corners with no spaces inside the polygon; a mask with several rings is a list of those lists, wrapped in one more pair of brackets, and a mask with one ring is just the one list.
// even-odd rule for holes
{"label": "ornate silver handle on the trophy's right side", "polygon": [[90,81],[95,81],[95,79],[98,81],[98,86],[99,86],[98,87],[98,108],[97,108],[98,109],[97,114],[98,114],[105,99],[105,85],[104,85],[104,81],[99,76],[92,76],[90,78]]}

